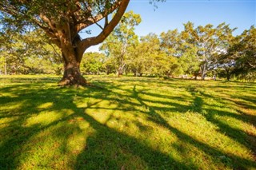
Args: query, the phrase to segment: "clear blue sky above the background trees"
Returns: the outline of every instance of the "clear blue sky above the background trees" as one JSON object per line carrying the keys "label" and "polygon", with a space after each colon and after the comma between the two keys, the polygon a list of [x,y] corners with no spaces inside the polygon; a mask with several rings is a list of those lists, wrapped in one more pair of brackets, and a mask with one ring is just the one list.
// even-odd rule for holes
{"label": "clear blue sky above the background trees", "polygon": [[[194,26],[222,22],[230,24],[231,28],[238,27],[234,34],[256,25],[256,0],[166,0],[158,2],[154,9],[149,0],[131,0],[129,10],[140,14],[142,22],[136,27],[139,36],[149,33],[160,34],[167,30],[183,30],[183,23],[193,22]],[[98,28],[91,27],[93,34],[98,34]],[[87,51],[98,51],[98,46]]]}

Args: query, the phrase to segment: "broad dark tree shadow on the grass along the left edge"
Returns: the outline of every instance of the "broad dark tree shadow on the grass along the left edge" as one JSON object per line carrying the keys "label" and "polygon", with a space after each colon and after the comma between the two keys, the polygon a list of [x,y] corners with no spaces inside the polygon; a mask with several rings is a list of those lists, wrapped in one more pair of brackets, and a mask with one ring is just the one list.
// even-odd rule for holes
{"label": "broad dark tree shadow on the grass along the left edge", "polygon": [[[71,119],[71,115],[63,112],[62,117],[57,121],[51,121],[46,125],[35,122],[33,125],[26,126],[27,121],[31,117],[36,117],[43,111],[38,109],[38,106],[52,102],[54,104],[53,107],[45,109],[45,111],[58,110],[62,107],[62,104],[58,102],[63,99],[62,95],[63,97],[68,97],[68,95],[60,94],[58,89],[29,89],[29,86],[13,85],[1,89],[2,92],[14,94],[14,96],[0,97],[2,108],[6,108],[0,109],[0,119],[10,119],[5,124],[0,124],[0,169],[18,168],[22,164],[21,157],[24,158],[24,156],[30,155],[30,150],[34,149],[26,148],[25,146],[30,145],[30,142],[38,142],[37,140],[31,141],[32,137],[37,136],[40,132],[50,127],[58,125],[58,123]],[[24,91],[24,89],[27,91]],[[47,136],[45,138],[47,139]]]}

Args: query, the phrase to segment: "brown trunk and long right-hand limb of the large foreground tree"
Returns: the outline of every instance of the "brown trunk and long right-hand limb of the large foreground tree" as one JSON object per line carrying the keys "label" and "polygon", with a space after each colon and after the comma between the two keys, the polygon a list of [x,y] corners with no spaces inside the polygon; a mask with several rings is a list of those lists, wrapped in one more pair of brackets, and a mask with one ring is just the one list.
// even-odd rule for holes
{"label": "brown trunk and long right-hand limb of the large foreground tree", "polygon": [[[110,23],[106,23],[105,27],[102,28],[102,33],[97,37],[86,38],[81,40],[76,34],[72,42],[65,42],[68,38],[63,38],[64,42],[61,42],[62,57],[64,61],[64,74],[62,80],[58,82],[58,85],[89,85],[86,79],[82,77],[80,72],[80,63],[82,61],[82,54],[91,45],[97,45],[103,42],[107,36],[114,30],[114,27],[118,25],[118,22],[122,18],[126,7],[128,6],[129,0],[122,0],[118,8],[117,14]],[[63,37],[68,37],[70,34],[65,34],[65,30],[62,31]]]}

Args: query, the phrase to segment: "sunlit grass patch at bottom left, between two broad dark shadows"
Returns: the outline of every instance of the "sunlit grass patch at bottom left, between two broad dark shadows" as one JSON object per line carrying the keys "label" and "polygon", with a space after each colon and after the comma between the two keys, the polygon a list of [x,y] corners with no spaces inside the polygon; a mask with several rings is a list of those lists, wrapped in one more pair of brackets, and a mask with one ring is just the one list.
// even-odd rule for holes
{"label": "sunlit grass patch at bottom left, between two broad dark shadows", "polygon": [[[83,130],[78,128],[78,124]],[[73,169],[76,156],[86,148],[86,138],[94,132],[84,120],[58,122],[45,128],[23,145],[19,168]]]}

